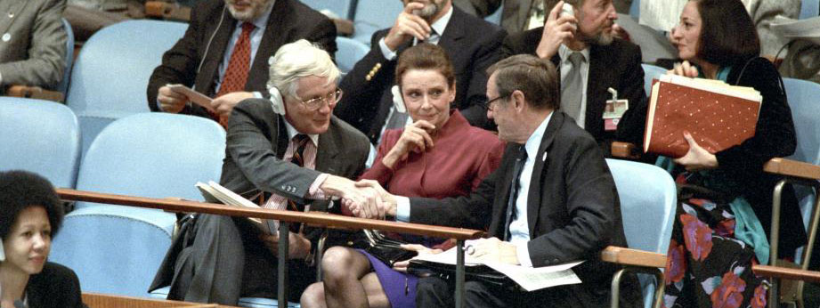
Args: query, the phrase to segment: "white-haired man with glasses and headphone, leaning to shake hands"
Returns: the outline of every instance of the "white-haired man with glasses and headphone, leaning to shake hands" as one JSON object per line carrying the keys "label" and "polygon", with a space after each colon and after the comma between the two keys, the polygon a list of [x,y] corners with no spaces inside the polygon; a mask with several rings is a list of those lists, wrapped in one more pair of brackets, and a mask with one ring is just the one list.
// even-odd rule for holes
{"label": "white-haired man with glasses and headphone, leaning to shake hands", "polygon": [[[368,139],[332,116],[342,97],[329,54],[305,40],[272,58],[270,100],[233,108],[220,183],[263,207],[340,213],[345,202],[376,201],[354,186],[368,157]],[[184,227],[183,227],[184,228]],[[313,254],[322,230],[291,225],[288,298],[315,280]],[[355,242],[353,231],[329,231],[326,247]],[[236,305],[241,297],[274,297],[279,238],[245,218],[197,215],[166,255],[151,288],[171,283],[169,299]]]}

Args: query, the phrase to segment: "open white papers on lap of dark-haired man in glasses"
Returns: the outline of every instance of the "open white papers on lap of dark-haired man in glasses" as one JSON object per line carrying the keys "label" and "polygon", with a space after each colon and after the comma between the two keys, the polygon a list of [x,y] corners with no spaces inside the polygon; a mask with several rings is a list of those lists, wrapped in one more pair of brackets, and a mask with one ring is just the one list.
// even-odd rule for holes
{"label": "open white papers on lap of dark-haired man in glasses", "polygon": [[[444,272],[455,272],[456,254],[455,248],[451,248],[441,254],[420,254],[410,259],[410,267],[414,265],[427,267],[428,269],[433,269],[433,272],[446,268],[447,270],[444,270]],[[541,288],[580,283],[581,281],[578,276],[575,275],[575,272],[572,272],[572,267],[580,263],[583,263],[583,261],[533,268],[504,263],[481,263],[469,255],[464,255],[464,265],[468,278],[471,277],[472,274],[480,276],[480,279],[493,276],[493,274],[497,276],[502,274],[528,292]],[[491,280],[492,279],[495,278],[491,278]]]}

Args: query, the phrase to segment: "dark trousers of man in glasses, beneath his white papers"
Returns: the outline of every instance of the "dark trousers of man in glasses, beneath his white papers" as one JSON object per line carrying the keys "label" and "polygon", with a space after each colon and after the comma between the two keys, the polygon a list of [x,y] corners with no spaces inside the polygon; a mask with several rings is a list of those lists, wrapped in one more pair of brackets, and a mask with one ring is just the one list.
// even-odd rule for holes
{"label": "dark trousers of man in glasses, beneath his white papers", "polygon": [[[634,279],[634,276],[631,277]],[[640,307],[637,280],[629,280],[629,291],[621,300],[621,307]],[[513,288],[495,288],[480,281],[465,282],[464,302],[466,307],[579,307],[599,308],[609,306],[609,290],[605,286],[592,287],[587,284],[567,285],[526,292]],[[637,293],[636,293],[637,292]],[[455,286],[452,280],[437,276],[418,280],[417,307],[453,307]]]}

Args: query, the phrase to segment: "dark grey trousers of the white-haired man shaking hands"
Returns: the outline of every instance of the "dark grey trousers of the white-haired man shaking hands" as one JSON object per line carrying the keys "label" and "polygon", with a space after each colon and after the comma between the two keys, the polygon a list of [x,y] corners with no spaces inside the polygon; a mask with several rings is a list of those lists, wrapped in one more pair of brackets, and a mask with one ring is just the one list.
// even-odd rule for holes
{"label": "dark grey trousers of the white-haired man shaking hands", "polygon": [[[277,258],[245,218],[199,215],[195,239],[176,260],[168,299],[235,305],[240,297],[275,298]],[[288,301],[298,302],[315,268],[288,262]]]}

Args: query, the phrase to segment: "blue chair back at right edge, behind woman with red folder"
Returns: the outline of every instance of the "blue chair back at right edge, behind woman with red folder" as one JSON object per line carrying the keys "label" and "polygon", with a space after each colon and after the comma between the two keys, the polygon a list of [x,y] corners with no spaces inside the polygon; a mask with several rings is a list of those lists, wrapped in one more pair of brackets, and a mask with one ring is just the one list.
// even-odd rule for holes
{"label": "blue chair back at right edge, behind woman with red folder", "polygon": [[[797,134],[797,150],[789,158],[820,165],[820,85],[806,80],[783,78],[786,97],[792,108],[792,119]],[[816,199],[812,190],[806,186],[795,185],[794,190],[800,200],[803,212],[803,223],[808,227],[808,218]]]}

